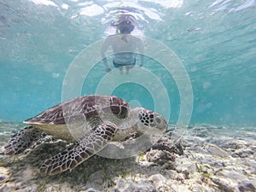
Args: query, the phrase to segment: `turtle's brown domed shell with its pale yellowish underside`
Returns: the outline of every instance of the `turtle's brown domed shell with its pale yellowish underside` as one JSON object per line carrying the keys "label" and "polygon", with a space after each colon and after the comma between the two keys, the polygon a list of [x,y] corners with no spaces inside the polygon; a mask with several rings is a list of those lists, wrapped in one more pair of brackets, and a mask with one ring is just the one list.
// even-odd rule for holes
{"label": "turtle's brown domed shell with its pale yellowish underside", "polygon": [[[86,123],[90,125],[91,122],[97,125],[102,116],[108,115],[115,116],[115,119],[125,119],[130,108],[127,102],[117,96],[80,96],[26,119],[24,123],[36,126],[55,137],[73,140],[70,128],[74,131]],[[73,126],[68,126],[67,129],[67,124]],[[81,135],[81,132],[78,131],[77,135]]]}

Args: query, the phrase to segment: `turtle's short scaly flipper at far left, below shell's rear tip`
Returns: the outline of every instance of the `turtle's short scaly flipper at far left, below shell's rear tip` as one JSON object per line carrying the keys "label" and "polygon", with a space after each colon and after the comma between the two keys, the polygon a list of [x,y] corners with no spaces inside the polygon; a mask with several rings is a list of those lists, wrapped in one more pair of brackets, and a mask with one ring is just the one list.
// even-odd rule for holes
{"label": "turtle's short scaly flipper at far left, below shell's rear tip", "polygon": [[42,131],[33,126],[27,126],[15,133],[8,143],[3,147],[4,154],[20,154],[26,148],[29,148],[33,142],[41,137]]}

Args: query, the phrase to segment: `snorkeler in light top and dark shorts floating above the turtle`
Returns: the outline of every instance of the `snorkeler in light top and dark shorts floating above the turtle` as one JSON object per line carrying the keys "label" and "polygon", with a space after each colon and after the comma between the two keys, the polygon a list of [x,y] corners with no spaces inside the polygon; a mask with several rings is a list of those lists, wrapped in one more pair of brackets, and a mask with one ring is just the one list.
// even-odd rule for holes
{"label": "snorkeler in light top and dark shorts floating above the turtle", "polygon": [[143,42],[140,38],[136,38],[131,35],[134,30],[133,19],[131,15],[120,15],[119,21],[116,25],[117,33],[110,35],[102,44],[102,57],[106,72],[110,72],[111,69],[108,66],[106,58],[106,52],[108,47],[113,49],[113,66],[119,68],[121,74],[123,74],[124,67],[126,74],[130,69],[136,65],[136,53],[141,53],[141,64],[143,66]]}

